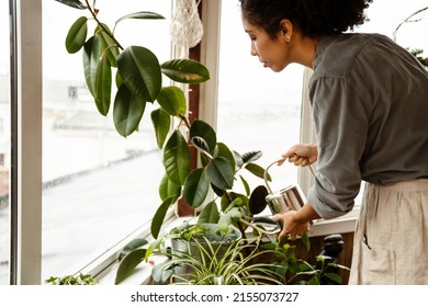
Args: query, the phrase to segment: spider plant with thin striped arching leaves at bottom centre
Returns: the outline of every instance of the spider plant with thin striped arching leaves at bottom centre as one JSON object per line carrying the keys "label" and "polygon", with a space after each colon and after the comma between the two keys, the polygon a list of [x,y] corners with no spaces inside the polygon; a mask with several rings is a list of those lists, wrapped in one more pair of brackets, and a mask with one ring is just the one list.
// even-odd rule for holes
{"label": "spider plant with thin striped arching leaves at bottom centre", "polygon": [[[260,237],[241,238],[232,243],[213,245],[205,237],[192,238],[198,252],[174,250],[171,259],[154,268],[156,283],[185,285],[272,285],[284,284],[284,276],[277,272],[279,264],[259,261],[273,257],[274,250],[260,249]],[[226,245],[226,246],[225,246]],[[177,270],[177,269],[181,270]],[[185,270],[182,270],[182,269]],[[278,270],[281,271],[281,270]]]}

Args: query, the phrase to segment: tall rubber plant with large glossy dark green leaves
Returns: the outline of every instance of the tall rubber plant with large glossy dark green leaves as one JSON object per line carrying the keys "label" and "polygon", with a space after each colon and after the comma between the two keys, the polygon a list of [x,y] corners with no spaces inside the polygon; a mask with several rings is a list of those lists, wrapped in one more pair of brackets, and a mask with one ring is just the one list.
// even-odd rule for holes
{"label": "tall rubber plant with large glossy dark green leaves", "polygon": [[[255,163],[261,151],[239,155],[219,143],[214,128],[207,123],[198,118],[189,121],[183,90],[170,83],[162,84],[162,75],[178,83],[205,82],[210,79],[206,67],[187,58],[160,64],[150,49],[144,46],[124,47],[114,35],[122,21],[164,19],[158,13],[129,13],[109,27],[98,18],[102,8],[97,5],[97,0],[92,0],[91,4],[88,0],[56,1],[86,12],[70,26],[66,48],[70,54],[82,53],[87,87],[101,115],[113,112],[117,133],[123,137],[136,133],[142,117],[146,115],[146,104],[157,105],[149,116],[157,145],[162,150],[165,175],[159,185],[160,205],[151,221],[153,237],[158,238],[166,213],[179,198],[184,198],[193,208],[209,203],[200,215],[203,223],[218,223],[221,227],[236,224],[240,215],[248,213],[250,196],[249,185],[244,177],[238,177],[238,171],[247,169],[262,178],[263,169]],[[93,25],[92,32],[89,31],[90,25]],[[191,169],[192,147],[196,149],[200,161],[196,169]],[[245,194],[232,191],[238,178]],[[207,200],[210,190],[214,191],[219,205],[214,197]],[[133,248],[126,249],[116,283],[143,261],[146,250],[140,248],[140,243],[135,246],[132,242]]]}

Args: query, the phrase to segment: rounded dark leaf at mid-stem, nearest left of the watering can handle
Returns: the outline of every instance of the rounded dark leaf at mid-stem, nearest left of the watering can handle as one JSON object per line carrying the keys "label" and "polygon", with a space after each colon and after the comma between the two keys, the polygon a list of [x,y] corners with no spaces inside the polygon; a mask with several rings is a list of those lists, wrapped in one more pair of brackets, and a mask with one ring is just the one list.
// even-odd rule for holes
{"label": "rounded dark leaf at mid-stem, nearest left of the watering can handle", "polygon": [[215,186],[228,190],[234,184],[234,170],[227,159],[223,157],[214,158],[206,167],[211,183]]}

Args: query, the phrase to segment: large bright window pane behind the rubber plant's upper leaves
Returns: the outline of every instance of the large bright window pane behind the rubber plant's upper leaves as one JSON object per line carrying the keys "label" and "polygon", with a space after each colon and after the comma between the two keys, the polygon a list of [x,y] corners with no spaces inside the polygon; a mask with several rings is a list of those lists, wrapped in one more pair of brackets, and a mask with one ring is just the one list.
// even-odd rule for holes
{"label": "large bright window pane behind the rubber plant's upper leaves", "polygon": [[[76,273],[150,219],[159,205],[157,187],[164,171],[150,105],[139,130],[121,137],[111,116],[113,104],[103,117],[88,92],[81,53],[66,53],[68,29],[87,12],[56,1],[43,4],[43,278],[47,278]],[[98,15],[110,29],[133,12],[166,16],[125,20],[115,29],[124,47],[146,46],[162,62],[170,57],[170,5],[168,0],[126,0],[121,5],[99,1]],[[93,33],[93,21],[89,26],[88,33]]]}

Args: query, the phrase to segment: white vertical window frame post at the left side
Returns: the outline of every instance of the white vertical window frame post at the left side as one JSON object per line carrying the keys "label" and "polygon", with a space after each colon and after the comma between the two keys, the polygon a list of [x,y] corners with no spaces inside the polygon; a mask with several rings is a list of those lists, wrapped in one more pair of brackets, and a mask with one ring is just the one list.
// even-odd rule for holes
{"label": "white vertical window frame post at the left side", "polygon": [[16,32],[11,92],[12,174],[10,283],[42,275],[42,0],[10,1]]}

